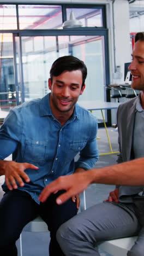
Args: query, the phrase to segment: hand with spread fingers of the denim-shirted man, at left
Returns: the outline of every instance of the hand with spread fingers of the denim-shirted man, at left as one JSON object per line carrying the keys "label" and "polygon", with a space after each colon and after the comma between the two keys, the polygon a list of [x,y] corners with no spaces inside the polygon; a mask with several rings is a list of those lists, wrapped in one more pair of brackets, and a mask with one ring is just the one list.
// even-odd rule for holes
{"label": "hand with spread fingers of the denim-shirted man, at left", "polygon": [[13,190],[13,188],[17,189],[16,182],[23,187],[25,184],[23,183],[22,178],[25,179],[26,182],[30,181],[28,175],[25,173],[27,168],[38,169],[37,166],[28,164],[27,162],[5,161],[5,183],[9,190]]}

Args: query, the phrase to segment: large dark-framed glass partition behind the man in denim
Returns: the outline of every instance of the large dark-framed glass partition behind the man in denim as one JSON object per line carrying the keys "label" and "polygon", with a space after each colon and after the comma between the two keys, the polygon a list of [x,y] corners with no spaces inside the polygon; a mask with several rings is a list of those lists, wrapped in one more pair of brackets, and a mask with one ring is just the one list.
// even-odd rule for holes
{"label": "large dark-framed glass partition behind the man in denim", "polygon": [[[63,21],[69,19],[71,11],[83,27],[63,30]],[[3,113],[47,94],[51,65],[63,55],[76,56],[86,63],[86,90],[80,100],[106,100],[104,85],[109,84],[109,61],[104,5],[0,4],[0,30]]]}

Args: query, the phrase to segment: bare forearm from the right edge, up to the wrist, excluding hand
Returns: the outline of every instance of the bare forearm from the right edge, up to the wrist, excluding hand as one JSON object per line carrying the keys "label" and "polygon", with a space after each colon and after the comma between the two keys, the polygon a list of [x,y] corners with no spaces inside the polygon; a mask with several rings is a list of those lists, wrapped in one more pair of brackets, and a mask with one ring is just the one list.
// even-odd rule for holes
{"label": "bare forearm from the right edge, up to the wrist, excluding hand", "polygon": [[88,171],[89,183],[143,185],[144,158]]}

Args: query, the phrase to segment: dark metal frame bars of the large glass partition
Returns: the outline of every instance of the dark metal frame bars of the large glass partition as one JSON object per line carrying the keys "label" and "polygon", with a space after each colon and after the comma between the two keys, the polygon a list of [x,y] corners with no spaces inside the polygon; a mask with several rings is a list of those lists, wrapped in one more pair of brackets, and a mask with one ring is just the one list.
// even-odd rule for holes
{"label": "dark metal frame bars of the large glass partition", "polygon": [[[0,2],[0,4],[11,5],[10,2]],[[15,69],[15,88],[18,88],[17,82],[17,69],[16,69],[16,43],[15,37],[20,38],[20,54],[22,56],[21,49],[21,37],[22,36],[104,36],[104,52],[105,52],[105,85],[110,84],[110,67],[109,67],[109,31],[106,25],[106,4],[61,4],[61,3],[17,3],[13,2],[13,5],[16,5],[16,19],[17,19],[17,30],[0,30],[0,33],[12,33],[13,34],[13,49],[14,49],[14,69]],[[102,10],[102,19],[103,27],[76,27],[76,28],[64,28],[63,30],[59,29],[28,29],[20,30],[19,26],[19,5],[61,5],[62,6],[62,19],[63,22],[67,20],[66,9],[67,8],[97,8]],[[21,79],[22,79],[22,89],[24,90],[23,83],[23,72],[22,72],[22,59],[20,60],[21,66]],[[110,95],[105,92],[105,101],[110,101]],[[17,96],[18,99],[18,96]],[[19,104],[19,101],[17,100]],[[107,110],[107,125],[111,124],[111,114]]]}

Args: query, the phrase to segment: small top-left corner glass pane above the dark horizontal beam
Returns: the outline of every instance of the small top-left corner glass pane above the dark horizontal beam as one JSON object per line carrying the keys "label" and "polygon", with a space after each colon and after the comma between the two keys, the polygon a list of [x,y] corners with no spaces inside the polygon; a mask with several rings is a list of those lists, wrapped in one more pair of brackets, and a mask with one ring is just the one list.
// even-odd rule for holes
{"label": "small top-left corner glass pane above the dark horizontal beam", "polygon": [[0,4],[0,30],[17,30],[16,5]]}

